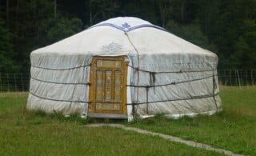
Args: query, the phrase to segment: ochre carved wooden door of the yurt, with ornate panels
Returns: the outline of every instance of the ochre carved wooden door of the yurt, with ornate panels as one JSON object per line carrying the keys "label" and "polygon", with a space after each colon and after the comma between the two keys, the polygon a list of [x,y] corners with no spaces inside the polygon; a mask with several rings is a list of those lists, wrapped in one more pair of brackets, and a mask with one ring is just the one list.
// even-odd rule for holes
{"label": "ochre carved wooden door of the yurt, with ornate panels", "polygon": [[126,114],[125,56],[94,57],[90,70],[90,113]]}

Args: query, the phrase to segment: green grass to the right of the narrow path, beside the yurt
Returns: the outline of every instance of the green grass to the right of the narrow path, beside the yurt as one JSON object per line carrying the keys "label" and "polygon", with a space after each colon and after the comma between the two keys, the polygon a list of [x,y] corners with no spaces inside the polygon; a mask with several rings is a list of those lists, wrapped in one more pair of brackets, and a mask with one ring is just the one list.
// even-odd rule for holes
{"label": "green grass to the right of the narrow path, beside the yurt", "polygon": [[157,115],[128,125],[204,142],[238,154],[256,155],[256,88],[221,86],[220,96],[223,111],[219,114],[178,120]]}

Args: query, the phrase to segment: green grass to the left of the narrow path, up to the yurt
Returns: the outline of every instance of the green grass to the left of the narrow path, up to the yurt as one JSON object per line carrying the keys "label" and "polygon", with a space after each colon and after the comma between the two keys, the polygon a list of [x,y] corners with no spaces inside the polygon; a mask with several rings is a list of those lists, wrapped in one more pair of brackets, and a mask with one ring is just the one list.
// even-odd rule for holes
{"label": "green grass to the left of the narrow path, up to the yurt", "polygon": [[0,155],[217,155],[72,115],[26,110],[27,94],[0,94]]}

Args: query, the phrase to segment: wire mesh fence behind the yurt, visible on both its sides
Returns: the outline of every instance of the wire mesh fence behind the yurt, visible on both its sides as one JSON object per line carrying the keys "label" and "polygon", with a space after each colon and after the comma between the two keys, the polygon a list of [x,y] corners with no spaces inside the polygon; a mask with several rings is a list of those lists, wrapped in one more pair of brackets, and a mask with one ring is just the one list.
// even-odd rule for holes
{"label": "wire mesh fence behind the yurt, visible on both its sides", "polygon": [[[218,82],[222,86],[255,86],[256,70],[218,70]],[[25,92],[29,89],[30,74],[0,73],[0,92]]]}

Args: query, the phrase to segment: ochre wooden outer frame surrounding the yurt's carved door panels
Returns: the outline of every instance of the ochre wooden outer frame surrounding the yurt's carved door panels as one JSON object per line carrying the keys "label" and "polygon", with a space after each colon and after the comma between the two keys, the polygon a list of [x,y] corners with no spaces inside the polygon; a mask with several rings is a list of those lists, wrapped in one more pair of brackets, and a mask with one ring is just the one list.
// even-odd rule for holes
{"label": "ochre wooden outer frame surrounding the yurt's carved door panels", "polygon": [[[117,113],[115,111],[112,110],[105,110],[105,111],[97,111],[96,110],[96,69],[97,68],[97,60],[113,60],[113,61],[122,61],[122,94],[120,95],[121,98],[121,112]],[[90,98],[90,105],[88,107],[88,112],[90,114],[90,116],[94,116],[94,117],[102,117],[102,114],[109,114],[109,116],[113,116],[113,114],[123,114],[123,115],[127,115],[127,106],[126,106],[126,101],[127,101],[127,69],[128,69],[128,63],[129,61],[128,57],[126,55],[122,55],[122,56],[94,56],[92,58],[92,63],[90,66],[90,94],[89,94],[89,98]],[[106,67],[106,70],[108,68]],[[113,69],[113,68],[112,68]],[[114,87],[112,88],[114,89]],[[94,114],[94,115],[93,115]],[[96,116],[95,116],[96,114]],[[98,115],[97,115],[98,114]]]}

